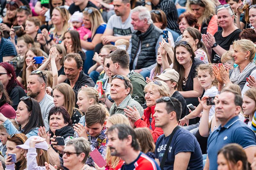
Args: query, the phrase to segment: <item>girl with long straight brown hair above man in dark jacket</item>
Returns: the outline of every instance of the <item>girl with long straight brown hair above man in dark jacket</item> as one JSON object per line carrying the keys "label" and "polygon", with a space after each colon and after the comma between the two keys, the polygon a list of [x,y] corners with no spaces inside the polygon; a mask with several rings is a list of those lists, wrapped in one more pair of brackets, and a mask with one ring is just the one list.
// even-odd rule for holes
{"label": "girl with long straight brown hair above man in dark jacket", "polygon": [[82,50],[79,33],[75,30],[68,30],[63,35],[63,41],[67,54],[69,53],[78,53],[80,54],[83,62],[85,61],[85,54]]}

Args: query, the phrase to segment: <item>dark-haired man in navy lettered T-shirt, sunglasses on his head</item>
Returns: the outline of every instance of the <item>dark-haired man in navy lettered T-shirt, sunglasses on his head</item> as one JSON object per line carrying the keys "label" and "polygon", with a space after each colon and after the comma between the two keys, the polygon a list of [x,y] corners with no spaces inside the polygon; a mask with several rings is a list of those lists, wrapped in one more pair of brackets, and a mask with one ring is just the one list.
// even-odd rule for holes
{"label": "dark-haired man in navy lettered T-shirt, sunglasses on his head", "polygon": [[178,121],[181,104],[173,97],[156,100],[156,127],[162,128],[164,134],[156,141],[156,162],[161,169],[203,169],[203,157],[196,137],[188,130],[180,128]]}

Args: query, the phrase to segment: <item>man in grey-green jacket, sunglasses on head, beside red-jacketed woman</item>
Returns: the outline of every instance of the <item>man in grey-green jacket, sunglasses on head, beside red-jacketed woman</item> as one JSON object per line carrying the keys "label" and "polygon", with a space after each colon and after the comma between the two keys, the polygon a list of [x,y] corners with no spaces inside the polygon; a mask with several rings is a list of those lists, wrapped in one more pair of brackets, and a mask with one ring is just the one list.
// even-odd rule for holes
{"label": "man in grey-green jacket, sunglasses on head, beside red-jacketed woman", "polygon": [[[111,80],[110,96],[115,101],[109,109],[110,115],[121,113],[125,114],[124,109],[131,107],[139,112],[140,116],[143,115],[143,108],[141,105],[132,99],[132,83],[123,75],[115,75]],[[105,97],[105,99],[107,99]],[[104,103],[104,101],[103,101]]]}

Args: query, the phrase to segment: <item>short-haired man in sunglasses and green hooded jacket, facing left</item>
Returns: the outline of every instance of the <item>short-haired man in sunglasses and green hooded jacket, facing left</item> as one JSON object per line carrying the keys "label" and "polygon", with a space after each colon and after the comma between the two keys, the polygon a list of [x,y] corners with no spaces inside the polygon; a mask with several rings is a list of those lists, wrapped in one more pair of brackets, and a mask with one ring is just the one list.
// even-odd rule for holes
{"label": "short-haired man in sunglasses and green hooded jacket, facing left", "polygon": [[[143,90],[147,83],[139,73],[136,73],[134,70],[129,70],[130,59],[126,50],[117,49],[108,56],[110,60],[109,63],[107,63],[107,67],[111,72],[111,76],[113,77],[117,74],[127,76],[132,82],[132,86],[136,87],[133,89],[132,98],[139,102],[142,107],[145,106],[146,101]],[[106,99],[106,101],[108,101],[108,99]]]}

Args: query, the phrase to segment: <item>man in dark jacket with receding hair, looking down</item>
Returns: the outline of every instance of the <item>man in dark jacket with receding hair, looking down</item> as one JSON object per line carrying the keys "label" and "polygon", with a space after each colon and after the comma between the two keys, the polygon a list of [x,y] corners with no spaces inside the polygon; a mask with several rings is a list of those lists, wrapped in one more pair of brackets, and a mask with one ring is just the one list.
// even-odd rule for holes
{"label": "man in dark jacket with receding hair, looking down", "polygon": [[91,77],[86,75],[83,68],[83,60],[78,53],[70,53],[65,56],[64,58],[64,72],[67,76],[67,80],[65,81],[68,83],[74,90],[77,98],[78,90],[87,85],[89,87],[94,87],[95,84],[92,81]]}

